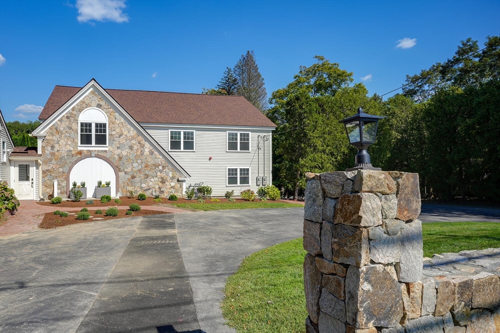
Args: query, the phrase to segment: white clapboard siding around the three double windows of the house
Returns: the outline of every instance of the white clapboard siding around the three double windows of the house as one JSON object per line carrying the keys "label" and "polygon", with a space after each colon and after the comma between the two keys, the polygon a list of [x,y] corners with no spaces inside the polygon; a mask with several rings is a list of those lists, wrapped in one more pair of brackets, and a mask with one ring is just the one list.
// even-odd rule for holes
{"label": "white clapboard siding around the three double windows of the house", "polygon": [[[145,126],[146,131],[179,163],[191,178],[189,184],[203,182],[212,188],[212,196],[223,196],[226,191],[234,190],[235,196],[247,188],[256,191],[256,177],[266,176],[271,182],[271,140],[270,130],[194,128]],[[195,151],[169,151],[168,129],[195,131]],[[227,152],[227,132],[250,132],[250,152]],[[260,139],[260,151],[257,151],[258,135],[265,135],[268,141]],[[211,160],[209,159],[211,157]],[[231,168],[250,168],[250,185],[226,186],[226,170]],[[264,169],[265,168],[265,169]]]}

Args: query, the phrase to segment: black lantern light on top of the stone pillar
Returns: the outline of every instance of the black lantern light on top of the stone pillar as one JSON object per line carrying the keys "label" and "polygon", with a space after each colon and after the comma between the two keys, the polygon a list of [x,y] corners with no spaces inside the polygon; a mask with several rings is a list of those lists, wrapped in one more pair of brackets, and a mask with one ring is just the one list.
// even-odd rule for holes
{"label": "black lantern light on top of the stone pillar", "polygon": [[349,138],[349,143],[357,148],[356,165],[345,171],[354,170],[382,170],[371,166],[370,155],[366,149],[375,142],[376,128],[381,116],[373,116],[363,112],[360,107],[357,114],[352,117],[340,120],[345,125],[345,131]]}

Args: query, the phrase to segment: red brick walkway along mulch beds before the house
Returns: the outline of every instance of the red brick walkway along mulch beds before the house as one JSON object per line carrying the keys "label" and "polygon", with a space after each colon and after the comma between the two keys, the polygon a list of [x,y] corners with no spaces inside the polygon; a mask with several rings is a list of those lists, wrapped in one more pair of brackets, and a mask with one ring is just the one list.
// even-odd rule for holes
{"label": "red brick walkway along mulch beds before the house", "polygon": [[[110,205],[114,206],[114,205]],[[81,207],[65,207],[62,210],[80,210]],[[86,208],[89,208],[86,206]],[[104,207],[105,208],[105,207]],[[186,213],[187,211],[169,207],[160,206],[141,206],[142,209],[151,209],[167,213]],[[22,200],[17,212],[8,217],[8,219],[0,225],[0,237],[20,234],[27,231],[39,230],[38,225],[43,220],[45,213],[50,213],[61,208],[37,205],[35,200]],[[89,210],[103,209],[102,207],[90,208]],[[128,206],[118,206],[118,209],[128,209]]]}

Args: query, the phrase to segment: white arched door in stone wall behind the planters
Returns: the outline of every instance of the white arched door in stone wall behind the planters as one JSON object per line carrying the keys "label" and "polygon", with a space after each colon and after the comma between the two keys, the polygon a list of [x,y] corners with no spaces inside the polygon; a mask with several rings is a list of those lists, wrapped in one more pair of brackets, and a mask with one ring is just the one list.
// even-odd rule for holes
{"label": "white arched door in stone wall behind the planters", "polygon": [[79,185],[80,182],[85,182],[87,188],[87,198],[95,197],[95,186],[97,181],[111,182],[111,197],[116,196],[116,174],[114,169],[106,161],[98,157],[88,157],[76,163],[69,174],[69,184],[73,181]]}

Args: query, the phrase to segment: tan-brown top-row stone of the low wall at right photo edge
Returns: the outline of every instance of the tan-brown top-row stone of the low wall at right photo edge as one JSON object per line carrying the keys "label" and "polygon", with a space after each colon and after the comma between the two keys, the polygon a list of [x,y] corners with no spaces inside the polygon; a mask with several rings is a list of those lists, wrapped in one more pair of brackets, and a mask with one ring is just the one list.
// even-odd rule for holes
{"label": "tan-brown top-row stone of the low wall at right photo edge", "polygon": [[472,277],[472,308],[496,310],[500,308],[500,280],[498,276],[482,272]]}

